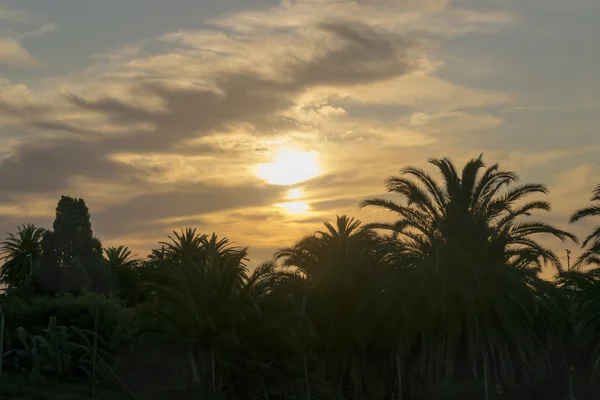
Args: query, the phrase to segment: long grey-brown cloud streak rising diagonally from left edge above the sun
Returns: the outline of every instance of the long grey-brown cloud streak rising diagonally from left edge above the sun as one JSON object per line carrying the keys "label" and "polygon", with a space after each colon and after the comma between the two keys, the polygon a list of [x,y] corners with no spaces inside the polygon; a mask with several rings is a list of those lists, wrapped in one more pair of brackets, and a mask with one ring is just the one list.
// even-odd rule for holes
{"label": "long grey-brown cloud streak rising diagonally from left edge above the sun", "polygon": [[[139,107],[132,100],[115,97],[88,100],[75,94],[69,94],[62,105],[42,105],[32,102],[25,88],[12,88],[12,92],[5,94],[5,101],[0,104],[0,108],[4,108],[10,118],[20,115],[21,123],[28,123],[38,129],[79,133],[86,140],[81,144],[73,140],[57,142],[56,148],[51,142],[42,146],[15,147],[15,154],[4,160],[0,167],[0,174],[5,176],[7,183],[6,190],[25,190],[19,180],[6,178],[20,168],[24,160],[30,163],[28,165],[34,165],[34,160],[36,163],[60,163],[65,153],[77,147],[75,157],[68,167],[65,164],[64,167],[41,174],[43,179],[40,179],[39,186],[36,187],[45,190],[52,185],[56,185],[56,188],[64,187],[64,175],[69,171],[96,178],[99,176],[95,174],[100,174],[100,171],[106,171],[107,176],[124,174],[127,169],[111,162],[108,155],[127,151],[140,153],[173,149],[183,140],[208,136],[216,130],[226,130],[237,123],[258,127],[260,133],[264,134],[267,129],[276,129],[278,124],[290,122],[289,117],[279,119],[278,114],[290,109],[295,104],[298,93],[312,85],[364,83],[402,75],[414,68],[409,61],[398,56],[399,52],[410,48],[410,45],[394,36],[377,33],[365,26],[349,26],[343,22],[321,25],[316,29],[336,39],[335,44],[312,58],[288,57],[278,67],[288,71],[283,74],[287,77],[284,80],[267,79],[242,70],[221,73],[213,82],[214,89],[145,81],[130,86],[132,100],[138,97],[154,98],[162,105],[158,110]],[[291,62],[290,59],[294,61]],[[320,109],[336,114],[332,107]],[[50,119],[56,118],[61,111],[89,113],[110,124],[131,129],[126,134],[106,137],[100,129],[89,130],[74,123]],[[152,128],[140,132],[135,129],[140,125]]]}

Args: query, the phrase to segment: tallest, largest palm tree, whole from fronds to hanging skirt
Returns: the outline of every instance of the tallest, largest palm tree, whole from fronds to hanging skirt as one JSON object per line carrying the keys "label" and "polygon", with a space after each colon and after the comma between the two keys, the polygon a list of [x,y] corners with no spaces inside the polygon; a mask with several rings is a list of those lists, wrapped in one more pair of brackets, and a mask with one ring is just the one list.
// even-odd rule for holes
{"label": "tallest, largest palm tree, whole from fronds to hanging skirt", "polygon": [[545,201],[522,201],[547,193],[543,185],[513,186],[515,173],[497,164],[484,169],[481,156],[460,175],[449,159],[430,163],[441,184],[422,169],[406,167],[386,185],[403,203],[361,203],[399,217],[368,225],[392,233],[396,260],[403,263],[386,289],[398,315],[390,323],[398,338],[397,368],[439,381],[452,379],[456,370],[478,376],[489,359],[494,377],[509,385],[517,376],[548,372],[556,309],[552,285],[537,274],[543,263],[559,271],[561,264],[532,236],[576,238],[543,222],[520,220],[550,210]]}

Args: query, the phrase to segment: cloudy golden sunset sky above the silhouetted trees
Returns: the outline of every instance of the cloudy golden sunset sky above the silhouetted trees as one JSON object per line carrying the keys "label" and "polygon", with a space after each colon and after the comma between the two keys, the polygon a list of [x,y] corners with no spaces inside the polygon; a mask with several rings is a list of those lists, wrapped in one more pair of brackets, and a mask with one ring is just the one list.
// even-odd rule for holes
{"label": "cloudy golden sunset sky above the silhouetted trees", "polygon": [[[255,262],[432,157],[569,215],[600,183],[597,0],[0,0],[0,232],[83,197],[141,256],[193,226]],[[592,223],[569,227],[583,237]],[[574,244],[549,246],[579,252]]]}

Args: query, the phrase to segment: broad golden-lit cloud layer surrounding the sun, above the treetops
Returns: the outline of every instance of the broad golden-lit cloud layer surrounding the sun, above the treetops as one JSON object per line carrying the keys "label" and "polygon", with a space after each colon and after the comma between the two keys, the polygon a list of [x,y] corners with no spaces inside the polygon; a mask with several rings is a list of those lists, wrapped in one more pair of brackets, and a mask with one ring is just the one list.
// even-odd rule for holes
{"label": "broad golden-lit cloud layer surrounding the sun, above the treetops", "polygon": [[[60,194],[83,196],[105,244],[139,252],[194,224],[270,253],[357,214],[445,134],[500,125],[481,109],[511,95],[437,76],[436,41],[511,20],[445,1],[290,1],[123,44],[80,74],[5,85],[0,206],[31,210],[36,198],[51,219]],[[303,216],[274,207],[287,187],[252,176],[282,144],[323,154],[326,175],[298,185]],[[446,144],[442,155],[466,151]]]}

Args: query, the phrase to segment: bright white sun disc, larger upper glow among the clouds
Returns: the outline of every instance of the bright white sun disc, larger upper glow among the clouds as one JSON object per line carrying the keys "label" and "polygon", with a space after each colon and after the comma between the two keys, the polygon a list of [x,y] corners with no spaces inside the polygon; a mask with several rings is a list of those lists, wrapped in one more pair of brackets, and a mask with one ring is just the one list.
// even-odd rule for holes
{"label": "bright white sun disc, larger upper glow among the clouds", "polygon": [[321,173],[316,151],[283,149],[274,161],[256,167],[258,177],[274,185],[294,185],[304,182]]}

